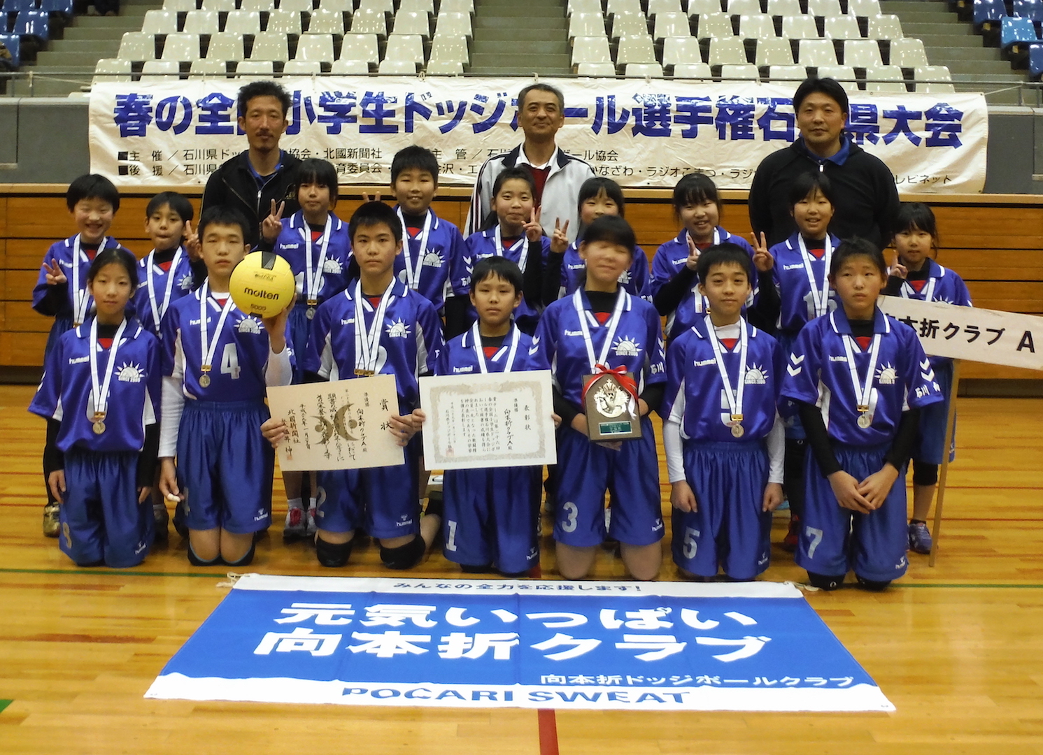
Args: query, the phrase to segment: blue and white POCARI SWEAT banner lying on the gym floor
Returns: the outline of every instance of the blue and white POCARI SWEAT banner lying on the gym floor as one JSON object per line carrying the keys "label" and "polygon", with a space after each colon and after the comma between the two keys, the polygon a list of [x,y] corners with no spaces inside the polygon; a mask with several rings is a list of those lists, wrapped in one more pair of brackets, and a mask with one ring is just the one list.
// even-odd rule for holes
{"label": "blue and white POCARI SWEAT banner lying on the gym floor", "polygon": [[148,698],[894,710],[792,585],[246,575]]}

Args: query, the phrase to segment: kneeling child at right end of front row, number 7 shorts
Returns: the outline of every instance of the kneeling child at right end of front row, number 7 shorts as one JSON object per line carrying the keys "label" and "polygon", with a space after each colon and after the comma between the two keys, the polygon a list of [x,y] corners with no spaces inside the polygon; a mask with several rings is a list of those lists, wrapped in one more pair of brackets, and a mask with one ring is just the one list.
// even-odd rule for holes
{"label": "kneeling child at right end of front row, number 7 shorts", "polygon": [[825,590],[848,569],[871,590],[905,574],[901,478],[920,410],[942,400],[916,332],[876,307],[887,278],[871,242],[842,242],[829,268],[841,306],[800,332],[782,383],[811,450],[797,563]]}

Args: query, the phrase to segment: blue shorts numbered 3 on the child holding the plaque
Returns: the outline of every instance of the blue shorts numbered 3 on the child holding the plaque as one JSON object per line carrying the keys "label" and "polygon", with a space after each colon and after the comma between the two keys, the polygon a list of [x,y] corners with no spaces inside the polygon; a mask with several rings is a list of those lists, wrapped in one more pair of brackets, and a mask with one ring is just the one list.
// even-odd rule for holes
{"label": "blue shorts numbered 3 on the child holding the plaque", "polygon": [[608,535],[628,545],[651,545],[663,535],[659,460],[652,420],[641,437],[611,450],[572,428],[558,436],[554,539],[590,547],[605,540],[605,490],[612,495]]}

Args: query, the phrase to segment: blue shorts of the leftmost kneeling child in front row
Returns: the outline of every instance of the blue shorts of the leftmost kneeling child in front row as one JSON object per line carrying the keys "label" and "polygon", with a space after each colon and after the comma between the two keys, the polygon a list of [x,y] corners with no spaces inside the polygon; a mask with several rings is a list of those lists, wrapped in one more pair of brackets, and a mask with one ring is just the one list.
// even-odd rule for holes
{"label": "blue shorts of the leftmost kneeling child in front row", "polygon": [[66,494],[58,546],[78,564],[137,566],[152,544],[152,500],[138,503],[137,452],[65,455]]}

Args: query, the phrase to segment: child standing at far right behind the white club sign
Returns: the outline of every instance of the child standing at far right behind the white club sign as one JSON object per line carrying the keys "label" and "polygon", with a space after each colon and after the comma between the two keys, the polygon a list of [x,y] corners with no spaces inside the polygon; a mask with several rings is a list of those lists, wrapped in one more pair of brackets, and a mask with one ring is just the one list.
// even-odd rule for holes
{"label": "child standing at far right behind the white club sign", "polygon": [[[898,259],[888,278],[888,295],[971,307],[971,296],[963,278],[931,259],[931,251],[938,251],[938,225],[930,208],[921,202],[902,203],[895,218],[891,243]],[[908,538],[909,550],[921,554],[930,553],[927,514],[938,485],[938,465],[945,454],[945,425],[952,392],[952,360],[931,357],[930,367],[942,386],[944,400],[925,407],[920,413],[920,437],[913,452],[913,518]],[[953,436],[949,461],[955,454]]]}

